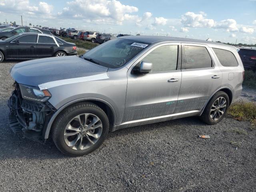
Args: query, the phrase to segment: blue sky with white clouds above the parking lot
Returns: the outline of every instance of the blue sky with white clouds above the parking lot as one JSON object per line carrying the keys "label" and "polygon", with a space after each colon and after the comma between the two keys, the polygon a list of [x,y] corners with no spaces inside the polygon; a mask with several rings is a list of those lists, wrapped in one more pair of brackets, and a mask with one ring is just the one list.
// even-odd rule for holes
{"label": "blue sky with white clouds above the parking lot", "polygon": [[0,22],[256,44],[256,0],[0,0]]}

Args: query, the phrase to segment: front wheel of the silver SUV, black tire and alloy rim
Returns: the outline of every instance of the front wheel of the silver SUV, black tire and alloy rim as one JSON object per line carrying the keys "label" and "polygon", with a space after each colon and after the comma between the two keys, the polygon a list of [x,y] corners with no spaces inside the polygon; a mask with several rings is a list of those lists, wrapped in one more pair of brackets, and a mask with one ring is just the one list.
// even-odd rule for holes
{"label": "front wheel of the silver SUV, black tire and alloy rim", "polygon": [[[67,132],[68,131],[67,127],[69,127],[68,125],[70,125],[72,122],[76,123],[76,121],[75,120],[72,121],[72,119],[75,118],[77,120],[78,119],[76,118],[77,116],[80,118],[80,122],[81,122],[81,124],[79,123],[77,124],[78,128],[81,127],[82,124],[84,124],[84,121],[82,121],[82,117],[85,114],[96,116],[97,120],[99,119],[101,122],[101,133],[98,139],[95,139],[94,137],[89,135],[90,140],[94,141],[95,143],[89,142],[89,139],[87,138],[88,136],[84,136],[84,134],[87,134],[84,132],[88,132],[84,130],[84,128],[82,128],[82,131],[80,131],[81,132],[80,139],[78,139],[79,134],[76,134],[75,136],[68,136],[68,137],[64,135],[64,134],[69,134],[69,132]],[[87,116],[88,118],[84,118],[84,119],[89,119],[90,115]],[[94,120],[94,118],[92,120]],[[90,123],[90,121],[88,121],[88,123]],[[95,126],[98,126],[98,124],[94,125],[93,127]],[[74,127],[75,126],[73,124],[71,128],[74,128]],[[102,145],[102,143],[106,139],[106,136],[108,135],[109,122],[108,122],[108,117],[106,113],[99,106],[90,102],[80,102],[66,108],[63,112],[61,112],[59,116],[56,118],[52,129],[53,129],[52,140],[54,141],[56,147],[58,148],[58,150],[60,150],[60,152],[68,156],[83,156],[95,151]],[[97,128],[95,128],[95,130],[96,129]],[[72,130],[72,134],[73,133],[74,132]],[[88,134],[90,134],[90,132]],[[97,134],[99,134],[99,132],[96,131],[95,135]],[[68,138],[68,142],[67,142],[67,139],[65,139],[65,137]],[[75,144],[73,139],[74,141],[76,141]],[[70,146],[68,146],[67,143],[70,144]],[[74,144],[74,147],[73,147],[73,144]],[[86,148],[87,146],[89,147]]]}

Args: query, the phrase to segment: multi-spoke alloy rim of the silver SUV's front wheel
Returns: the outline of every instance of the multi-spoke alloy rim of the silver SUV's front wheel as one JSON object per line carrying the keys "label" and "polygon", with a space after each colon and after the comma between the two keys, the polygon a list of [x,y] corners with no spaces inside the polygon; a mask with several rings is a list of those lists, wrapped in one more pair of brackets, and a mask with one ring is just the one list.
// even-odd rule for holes
{"label": "multi-spoke alloy rim of the silver SUV's front wheel", "polygon": [[98,116],[90,113],[80,114],[66,125],[64,141],[73,150],[92,147],[100,139],[102,122]]}

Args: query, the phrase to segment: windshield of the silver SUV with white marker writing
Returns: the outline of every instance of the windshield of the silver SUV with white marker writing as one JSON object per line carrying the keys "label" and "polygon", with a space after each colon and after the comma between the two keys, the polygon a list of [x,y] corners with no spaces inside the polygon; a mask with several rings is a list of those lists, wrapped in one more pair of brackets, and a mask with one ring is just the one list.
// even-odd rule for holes
{"label": "windshield of the silver SUV with white marker writing", "polygon": [[104,67],[119,68],[148,45],[149,43],[116,38],[86,52],[83,57]]}

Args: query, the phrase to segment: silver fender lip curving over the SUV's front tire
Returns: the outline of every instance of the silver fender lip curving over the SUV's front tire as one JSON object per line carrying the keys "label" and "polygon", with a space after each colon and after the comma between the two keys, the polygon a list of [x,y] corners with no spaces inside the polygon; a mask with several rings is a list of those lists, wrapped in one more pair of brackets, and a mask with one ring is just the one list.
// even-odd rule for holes
{"label": "silver fender lip curving over the SUV's front tire", "polygon": [[99,102],[102,102],[102,103],[106,104],[110,108],[111,112],[113,113],[114,124],[116,124],[116,112],[115,112],[113,106],[110,103],[108,103],[105,100],[99,99],[99,98],[80,98],[80,99],[72,100],[72,101],[64,104],[60,108],[58,108],[58,110],[56,110],[56,112],[50,118],[50,121],[48,122],[46,130],[43,131],[42,137],[44,139],[48,139],[50,130],[52,128],[52,124],[53,124],[54,120],[56,119],[56,117],[58,116],[58,114],[60,114],[60,112],[62,112],[62,110],[64,110],[65,108],[67,108],[68,106],[70,106],[74,103],[81,102],[81,101],[88,101],[88,100],[90,100],[90,101],[99,101]]}

